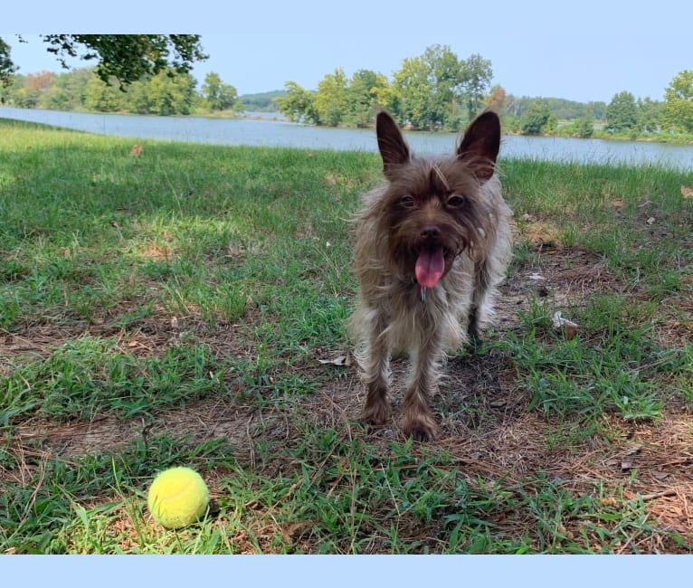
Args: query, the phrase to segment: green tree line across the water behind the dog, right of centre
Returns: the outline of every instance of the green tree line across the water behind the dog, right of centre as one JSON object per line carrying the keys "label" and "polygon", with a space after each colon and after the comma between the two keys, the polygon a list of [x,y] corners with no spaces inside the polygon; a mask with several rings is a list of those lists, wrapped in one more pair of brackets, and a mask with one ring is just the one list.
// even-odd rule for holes
{"label": "green tree line across the water behind the dog, right of centre", "polygon": [[[643,135],[660,138],[693,134],[693,71],[680,71],[664,100],[636,98],[624,90],[608,104],[554,98],[515,97],[490,87],[491,62],[479,54],[460,59],[447,45],[432,45],[404,59],[392,79],[371,70],[347,78],[342,68],[328,73],[317,90],[287,81],[275,99],[292,121],[337,127],[370,125],[375,109],[387,109],[412,129],[458,130],[482,109],[495,109],[506,132],[578,138]],[[690,138],[688,138],[690,140]]]}

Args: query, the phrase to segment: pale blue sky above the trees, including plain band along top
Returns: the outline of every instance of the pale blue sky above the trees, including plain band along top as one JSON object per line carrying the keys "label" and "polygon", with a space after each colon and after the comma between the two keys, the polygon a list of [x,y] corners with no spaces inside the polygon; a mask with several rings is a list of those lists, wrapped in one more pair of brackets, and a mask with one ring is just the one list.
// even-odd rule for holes
{"label": "pale blue sky above the trees, including plain band along top", "polygon": [[492,83],[515,96],[608,103],[628,90],[662,100],[673,77],[693,69],[689,0],[119,0],[98,14],[72,4],[3,8],[0,36],[21,73],[61,71],[37,35],[70,31],[201,34],[210,57],[195,78],[214,71],[239,94],[282,90],[286,81],[315,90],[338,67],[348,77],[368,69],[392,79],[404,58],[433,44],[460,59],[479,53],[491,62]]}

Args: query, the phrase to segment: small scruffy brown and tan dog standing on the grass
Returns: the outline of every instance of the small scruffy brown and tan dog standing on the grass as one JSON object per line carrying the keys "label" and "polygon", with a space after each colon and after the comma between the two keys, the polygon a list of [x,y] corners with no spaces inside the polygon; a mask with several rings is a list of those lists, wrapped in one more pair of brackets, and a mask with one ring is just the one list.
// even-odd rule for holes
{"label": "small scruffy brown and tan dog standing on the grass", "polygon": [[476,341],[511,256],[510,218],[496,175],[498,115],[487,110],[452,156],[410,152],[394,119],[375,119],[385,185],[356,214],[354,270],[359,288],[347,330],[366,388],[363,418],[390,417],[390,357],[411,361],[404,434],[439,434],[429,408],[446,353]]}

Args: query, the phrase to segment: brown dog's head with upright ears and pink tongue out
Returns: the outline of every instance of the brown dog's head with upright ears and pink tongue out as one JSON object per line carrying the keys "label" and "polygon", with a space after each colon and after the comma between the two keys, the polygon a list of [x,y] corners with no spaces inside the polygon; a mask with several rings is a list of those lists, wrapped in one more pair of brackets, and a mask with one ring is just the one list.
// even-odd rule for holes
{"label": "brown dog's head with upright ears and pink tongue out", "polygon": [[390,261],[401,277],[432,288],[462,251],[473,256],[491,229],[481,186],[493,175],[498,156],[498,116],[480,115],[454,156],[439,159],[413,157],[385,112],[377,116],[376,134],[389,182],[379,234],[387,235]]}

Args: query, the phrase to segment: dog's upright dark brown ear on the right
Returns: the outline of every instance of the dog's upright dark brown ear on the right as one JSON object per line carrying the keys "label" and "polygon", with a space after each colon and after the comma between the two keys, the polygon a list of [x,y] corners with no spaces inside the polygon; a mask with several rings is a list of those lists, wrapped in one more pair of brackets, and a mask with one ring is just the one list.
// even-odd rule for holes
{"label": "dog's upright dark brown ear on the right", "polygon": [[457,147],[457,156],[469,161],[480,180],[488,180],[496,167],[500,149],[500,119],[487,110],[472,120]]}

